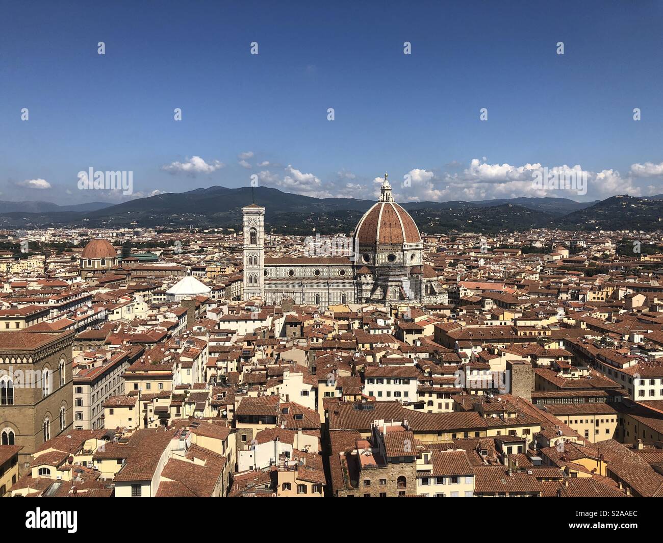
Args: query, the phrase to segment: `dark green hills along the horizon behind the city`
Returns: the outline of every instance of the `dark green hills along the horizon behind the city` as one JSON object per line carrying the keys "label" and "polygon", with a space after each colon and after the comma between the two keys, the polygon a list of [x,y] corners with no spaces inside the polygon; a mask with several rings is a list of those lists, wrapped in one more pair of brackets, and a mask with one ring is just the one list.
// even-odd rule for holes
{"label": "dark green hills along the horizon behind the city", "polygon": [[[277,233],[339,233],[353,230],[375,200],[312,198],[269,187],[211,186],[137,198],[122,204],[0,202],[0,228],[35,227],[241,227],[241,208],[265,206],[265,224]],[[612,196],[594,202],[568,198],[511,198],[479,202],[401,204],[426,233],[520,231],[528,228],[663,229],[663,195]]]}

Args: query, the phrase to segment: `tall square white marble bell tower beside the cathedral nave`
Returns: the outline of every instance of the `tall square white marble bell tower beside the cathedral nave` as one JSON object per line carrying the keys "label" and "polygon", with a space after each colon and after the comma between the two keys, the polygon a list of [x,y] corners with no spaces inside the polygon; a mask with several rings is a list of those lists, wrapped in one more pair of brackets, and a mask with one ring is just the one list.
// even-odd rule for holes
{"label": "tall square white marble bell tower beside the cathedral nave", "polygon": [[244,296],[265,298],[265,208],[242,208],[244,233]]}

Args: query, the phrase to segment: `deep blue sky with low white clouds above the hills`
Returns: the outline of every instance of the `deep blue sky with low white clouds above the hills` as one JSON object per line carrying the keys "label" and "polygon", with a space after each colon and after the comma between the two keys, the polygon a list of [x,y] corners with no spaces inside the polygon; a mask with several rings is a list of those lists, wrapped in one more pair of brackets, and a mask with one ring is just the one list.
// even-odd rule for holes
{"label": "deep blue sky with low white clouds above the hills", "polygon": [[[403,201],[659,194],[662,22],[648,1],[0,1],[0,200],[251,175],[373,198],[385,171]],[[587,194],[535,192],[542,166]],[[78,190],[89,168],[131,170],[134,194]]]}

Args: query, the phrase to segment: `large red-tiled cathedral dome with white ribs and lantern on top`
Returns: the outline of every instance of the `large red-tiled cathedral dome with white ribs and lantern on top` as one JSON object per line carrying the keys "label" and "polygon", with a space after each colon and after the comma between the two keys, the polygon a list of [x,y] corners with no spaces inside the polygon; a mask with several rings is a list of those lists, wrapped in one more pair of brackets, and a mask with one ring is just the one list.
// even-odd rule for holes
{"label": "large red-tiled cathedral dome with white ribs and lantern on top", "polygon": [[379,202],[366,211],[357,224],[355,240],[363,247],[421,243],[414,220],[394,202],[386,176]]}

